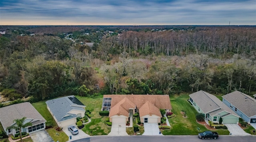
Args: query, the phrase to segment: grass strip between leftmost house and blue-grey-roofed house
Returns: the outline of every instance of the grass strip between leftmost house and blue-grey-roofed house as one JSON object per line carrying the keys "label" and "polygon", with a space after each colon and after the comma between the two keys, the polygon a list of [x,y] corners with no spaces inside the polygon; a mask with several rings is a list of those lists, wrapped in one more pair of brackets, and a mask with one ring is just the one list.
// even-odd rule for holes
{"label": "grass strip between leftmost house and blue-grey-roofed house", "polygon": [[[47,100],[46,100],[47,101]],[[55,120],[53,119],[52,115],[50,114],[49,110],[46,106],[46,101],[40,101],[37,103],[32,103],[33,107],[44,117],[46,121],[52,121],[54,123],[53,128],[47,129],[46,131],[52,137],[54,141],[59,142],[66,142],[68,141],[68,136],[63,131],[56,131],[55,128],[58,127]],[[58,133],[59,135],[56,135]]]}

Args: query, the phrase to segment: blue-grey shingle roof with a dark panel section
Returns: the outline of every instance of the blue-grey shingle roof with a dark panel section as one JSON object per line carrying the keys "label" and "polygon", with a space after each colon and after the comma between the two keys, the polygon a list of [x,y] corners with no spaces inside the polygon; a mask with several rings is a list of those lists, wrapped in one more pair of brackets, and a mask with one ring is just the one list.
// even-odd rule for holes
{"label": "blue-grey shingle roof with a dark panel section", "polygon": [[[76,114],[69,113],[71,110],[81,110],[85,112],[85,105],[81,103],[74,95],[48,100],[45,103],[50,108],[58,122],[76,118]],[[66,116],[67,114],[69,116]]]}

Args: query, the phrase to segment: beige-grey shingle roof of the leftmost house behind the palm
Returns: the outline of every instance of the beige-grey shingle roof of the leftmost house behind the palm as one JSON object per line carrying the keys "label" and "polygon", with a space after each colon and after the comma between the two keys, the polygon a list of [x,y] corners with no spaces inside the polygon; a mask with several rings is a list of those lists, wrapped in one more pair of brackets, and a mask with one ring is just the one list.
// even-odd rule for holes
{"label": "beige-grey shingle roof of the leftmost house behind the palm", "polygon": [[46,122],[43,116],[29,102],[10,105],[0,108],[0,121],[4,129],[14,124],[14,119],[26,117],[27,119],[37,120],[32,124]]}

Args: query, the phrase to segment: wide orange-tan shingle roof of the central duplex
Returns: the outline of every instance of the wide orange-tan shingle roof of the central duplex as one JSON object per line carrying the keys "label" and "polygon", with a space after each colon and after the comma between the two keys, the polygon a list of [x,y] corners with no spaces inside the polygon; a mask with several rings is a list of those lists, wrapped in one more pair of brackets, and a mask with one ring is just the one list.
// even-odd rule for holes
{"label": "wide orange-tan shingle roof of the central duplex", "polygon": [[159,109],[172,109],[169,95],[104,95],[103,98],[111,98],[109,116],[116,114],[129,116],[130,108],[138,108],[140,116],[146,114],[161,116]]}

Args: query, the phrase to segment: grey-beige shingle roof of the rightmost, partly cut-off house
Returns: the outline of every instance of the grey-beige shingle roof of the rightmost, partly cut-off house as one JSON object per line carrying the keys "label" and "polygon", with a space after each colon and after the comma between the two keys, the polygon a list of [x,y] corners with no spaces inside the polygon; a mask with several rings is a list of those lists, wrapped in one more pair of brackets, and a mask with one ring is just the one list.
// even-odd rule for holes
{"label": "grey-beige shingle roof of the rightmost, partly cut-off house", "polygon": [[256,100],[239,91],[222,96],[226,101],[243,112],[246,116],[256,115]]}

